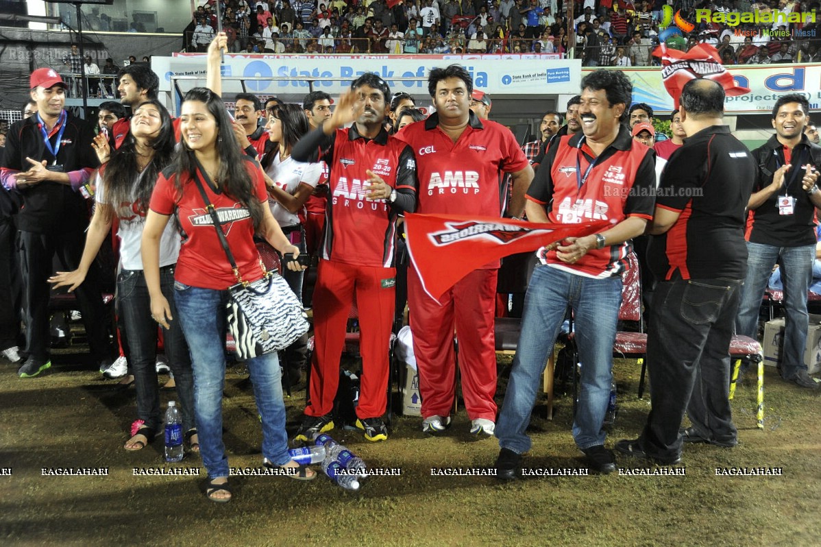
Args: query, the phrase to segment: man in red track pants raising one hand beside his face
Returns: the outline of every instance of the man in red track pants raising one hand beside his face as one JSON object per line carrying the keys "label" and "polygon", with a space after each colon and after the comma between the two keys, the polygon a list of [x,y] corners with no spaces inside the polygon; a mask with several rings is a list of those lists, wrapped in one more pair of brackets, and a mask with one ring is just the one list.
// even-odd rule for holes
{"label": "man in red track pants raising one hand beside his face", "polygon": [[[388,84],[366,72],[342,94],[328,121],[296,143],[300,162],[322,159],[330,168],[330,197],[317,285],[310,404],[296,440],[333,429],[333,399],[345,327],[356,302],[360,320],[362,377],[356,426],[371,442],[388,439],[382,420],[388,404],[388,343],[395,306],[397,215],[416,204],[414,154],[383,126]],[[352,126],[342,129],[350,122]]]}

